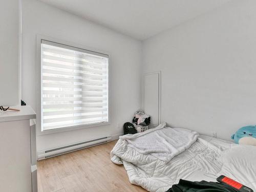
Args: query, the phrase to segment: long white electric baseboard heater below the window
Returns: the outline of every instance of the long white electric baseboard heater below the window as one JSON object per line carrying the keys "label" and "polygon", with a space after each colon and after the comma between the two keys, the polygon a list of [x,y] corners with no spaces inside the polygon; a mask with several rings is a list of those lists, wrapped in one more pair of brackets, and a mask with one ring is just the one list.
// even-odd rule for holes
{"label": "long white electric baseboard heater below the window", "polygon": [[92,140],[88,140],[88,141],[82,141],[79,143],[66,145],[66,146],[62,146],[62,147],[52,148],[51,150],[38,152],[37,159],[42,160],[42,159],[47,159],[50,157],[55,157],[58,155],[74,152],[77,150],[82,150],[83,148],[106,143],[109,141],[111,141],[111,136],[101,137],[101,138],[92,139]]}

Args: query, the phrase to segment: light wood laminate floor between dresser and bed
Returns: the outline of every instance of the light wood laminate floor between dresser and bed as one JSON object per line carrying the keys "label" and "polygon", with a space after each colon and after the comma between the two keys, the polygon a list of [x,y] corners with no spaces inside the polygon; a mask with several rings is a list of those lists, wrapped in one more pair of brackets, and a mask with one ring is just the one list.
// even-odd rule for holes
{"label": "light wood laminate floor between dresser and bed", "polygon": [[37,162],[38,192],[146,191],[110,160],[116,141]]}

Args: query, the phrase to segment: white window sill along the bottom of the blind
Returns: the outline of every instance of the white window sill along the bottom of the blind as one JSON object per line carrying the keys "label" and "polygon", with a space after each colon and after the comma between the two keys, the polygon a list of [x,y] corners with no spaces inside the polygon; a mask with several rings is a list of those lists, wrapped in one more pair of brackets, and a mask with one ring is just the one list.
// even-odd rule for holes
{"label": "white window sill along the bottom of the blind", "polygon": [[103,125],[109,125],[109,124],[111,124],[110,121],[109,122],[103,122],[103,123],[100,122],[100,123],[92,123],[92,124],[74,125],[74,126],[68,126],[68,127],[45,130],[45,131],[38,130],[37,135],[49,135],[49,134],[54,134],[54,133],[75,131],[75,130],[87,129],[87,128],[90,128],[90,127],[103,126]]}

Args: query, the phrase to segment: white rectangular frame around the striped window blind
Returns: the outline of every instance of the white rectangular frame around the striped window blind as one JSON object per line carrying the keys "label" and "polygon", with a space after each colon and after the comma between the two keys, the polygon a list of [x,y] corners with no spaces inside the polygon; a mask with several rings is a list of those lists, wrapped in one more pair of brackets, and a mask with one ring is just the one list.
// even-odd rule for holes
{"label": "white rectangular frame around the striped window blind", "polygon": [[[42,130],[41,129],[41,120],[42,120],[42,107],[41,107],[41,101],[42,101],[42,65],[41,65],[41,40],[47,40],[56,42],[57,44],[62,44],[66,46],[71,46],[75,48],[80,48],[87,50],[88,52],[95,52],[103,55],[109,56],[109,67],[108,67],[108,121],[107,122],[97,122],[97,123],[91,123],[91,124],[81,124],[81,125],[72,125],[67,127],[60,127],[57,129],[51,129],[51,130]],[[110,109],[110,54],[101,51],[96,50],[93,48],[88,48],[82,45],[75,44],[73,42],[67,42],[64,40],[60,40],[57,38],[42,36],[42,35],[36,35],[36,98],[37,98],[37,104],[36,104],[36,127],[37,127],[37,135],[46,135],[46,134],[53,134],[53,133],[60,133],[60,132],[66,132],[66,131],[74,131],[74,130],[80,130],[80,129],[87,129],[89,127],[96,127],[96,126],[103,126],[103,125],[109,125],[111,124],[111,109]]]}

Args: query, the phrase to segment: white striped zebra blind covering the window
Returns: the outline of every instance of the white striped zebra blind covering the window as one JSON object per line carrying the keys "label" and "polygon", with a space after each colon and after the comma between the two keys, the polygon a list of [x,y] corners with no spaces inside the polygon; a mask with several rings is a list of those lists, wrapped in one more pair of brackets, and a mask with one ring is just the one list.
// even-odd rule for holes
{"label": "white striped zebra blind covering the window", "polygon": [[41,40],[42,131],[109,121],[108,55]]}

